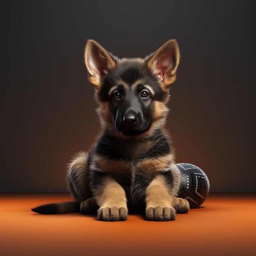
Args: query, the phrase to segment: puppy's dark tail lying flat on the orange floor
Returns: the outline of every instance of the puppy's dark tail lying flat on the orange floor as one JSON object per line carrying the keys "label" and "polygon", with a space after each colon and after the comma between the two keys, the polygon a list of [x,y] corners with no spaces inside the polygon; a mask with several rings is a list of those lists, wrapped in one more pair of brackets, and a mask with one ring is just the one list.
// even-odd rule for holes
{"label": "puppy's dark tail lying flat on the orange floor", "polygon": [[61,202],[53,204],[43,204],[36,208],[31,208],[31,211],[41,214],[60,214],[60,213],[72,213],[80,211],[79,202]]}

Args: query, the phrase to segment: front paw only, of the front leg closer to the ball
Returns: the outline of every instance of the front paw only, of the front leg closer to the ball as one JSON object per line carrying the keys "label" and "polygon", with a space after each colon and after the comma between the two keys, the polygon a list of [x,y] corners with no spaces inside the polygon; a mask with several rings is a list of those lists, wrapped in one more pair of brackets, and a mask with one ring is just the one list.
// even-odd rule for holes
{"label": "front paw only, of the front leg closer to the ball", "polygon": [[147,207],[146,220],[155,220],[155,221],[169,221],[175,220],[176,211],[173,207]]}

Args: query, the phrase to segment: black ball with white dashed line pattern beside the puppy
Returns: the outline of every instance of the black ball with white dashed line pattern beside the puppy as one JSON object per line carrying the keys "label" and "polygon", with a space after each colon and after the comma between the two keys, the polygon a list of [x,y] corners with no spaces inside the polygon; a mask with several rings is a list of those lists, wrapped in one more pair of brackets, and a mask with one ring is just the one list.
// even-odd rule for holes
{"label": "black ball with white dashed line pattern beside the puppy", "polygon": [[176,164],[180,170],[181,184],[178,197],[189,202],[190,208],[200,206],[207,198],[210,184],[205,173],[193,164]]}

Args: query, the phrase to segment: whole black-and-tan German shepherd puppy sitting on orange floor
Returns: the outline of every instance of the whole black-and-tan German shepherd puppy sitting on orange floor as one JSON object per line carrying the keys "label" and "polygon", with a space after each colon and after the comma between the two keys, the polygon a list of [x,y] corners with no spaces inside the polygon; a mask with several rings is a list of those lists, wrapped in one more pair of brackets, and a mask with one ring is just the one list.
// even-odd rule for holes
{"label": "whole black-and-tan German shepherd puppy sitting on orange floor", "polygon": [[164,130],[179,61],[176,40],[145,58],[121,59],[88,40],[85,65],[102,132],[88,153],[77,153],[69,165],[67,184],[75,202],[32,211],[97,213],[103,221],[126,220],[128,212],[168,221],[189,211],[189,203],[177,198],[180,172]]}

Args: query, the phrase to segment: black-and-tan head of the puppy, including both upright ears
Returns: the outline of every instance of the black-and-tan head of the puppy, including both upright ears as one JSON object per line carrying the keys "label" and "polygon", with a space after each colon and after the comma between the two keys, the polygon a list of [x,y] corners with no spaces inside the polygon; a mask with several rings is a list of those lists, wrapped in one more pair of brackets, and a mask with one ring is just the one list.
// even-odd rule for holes
{"label": "black-and-tan head of the puppy, including both upright ears", "polygon": [[168,88],[180,61],[176,40],[145,58],[119,59],[88,40],[85,65],[94,84],[101,125],[120,136],[145,136],[164,125]]}

